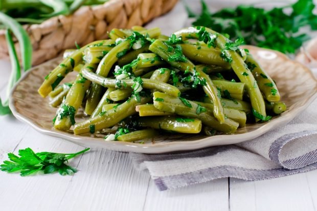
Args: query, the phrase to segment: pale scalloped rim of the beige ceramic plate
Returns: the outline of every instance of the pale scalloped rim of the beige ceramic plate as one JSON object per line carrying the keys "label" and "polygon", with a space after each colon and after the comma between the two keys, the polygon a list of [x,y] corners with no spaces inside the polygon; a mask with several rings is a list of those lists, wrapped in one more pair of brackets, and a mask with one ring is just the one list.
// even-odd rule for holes
{"label": "pale scalloped rim of the beige ceramic plate", "polygon": [[[286,55],[284,55],[281,52],[276,51],[276,50],[267,49],[267,48],[260,48],[260,47],[256,47],[256,46],[250,46],[250,45],[244,45],[244,46],[257,48],[257,49],[263,49],[263,50],[267,50],[267,51],[273,51],[276,54],[284,57],[285,59],[290,60]],[[56,60],[56,59],[58,59],[58,58],[55,58],[53,60]],[[42,64],[46,64],[46,63],[49,63],[51,61],[52,60],[49,60],[49,61],[42,63]],[[298,62],[293,61],[293,60],[290,60],[290,61],[292,61],[294,63],[298,63]],[[311,70],[304,65],[302,65],[302,66],[303,66],[303,69],[305,69],[307,72],[309,72],[309,74],[311,75],[311,77],[313,78],[313,80],[316,83],[315,85],[317,86],[317,79],[314,77]],[[103,141],[102,139],[63,134],[62,132],[60,133],[57,130],[52,130],[52,129],[48,130],[48,129],[41,128],[38,125],[36,125],[34,122],[32,122],[31,119],[18,113],[15,109],[15,106],[14,106],[13,93],[16,90],[19,83],[21,81],[23,81],[27,77],[27,75],[30,74],[30,72],[32,70],[33,70],[33,68],[30,69],[28,72],[26,72],[20,78],[20,80],[16,83],[16,85],[13,87],[13,89],[10,92],[9,107],[11,109],[12,114],[18,120],[31,125],[34,129],[36,129],[37,131],[39,131],[42,134],[46,134],[46,135],[56,137],[56,138],[61,138],[61,139],[64,139],[66,141],[71,141],[71,142],[73,142],[75,144],[79,144],[81,146],[102,147],[102,148],[109,149],[109,150],[123,151],[123,152],[138,152],[138,153],[152,154],[152,153],[166,153],[166,152],[175,152],[175,151],[195,150],[195,149],[201,149],[201,148],[206,148],[206,147],[211,147],[211,146],[219,146],[219,144],[212,143],[213,140],[217,140],[217,139],[223,139],[223,141],[227,141],[227,143],[224,143],[222,145],[241,143],[241,142],[248,141],[248,140],[251,140],[251,139],[254,139],[254,138],[257,138],[257,137],[263,135],[267,131],[273,129],[276,125],[282,126],[282,125],[287,124],[293,118],[295,118],[299,113],[304,111],[308,107],[308,105],[315,98],[317,98],[317,93],[315,93],[309,99],[307,99],[303,103],[303,105],[297,107],[296,110],[292,110],[292,111],[288,112],[287,114],[285,114],[284,116],[280,116],[280,117],[275,118],[267,123],[263,123],[263,125],[261,127],[255,129],[253,131],[244,133],[244,134],[217,135],[217,136],[213,136],[213,137],[206,137],[206,138],[199,139],[196,141],[174,141],[174,142],[169,142],[169,143],[156,143],[153,145],[143,145],[143,144],[130,143],[130,142]]]}

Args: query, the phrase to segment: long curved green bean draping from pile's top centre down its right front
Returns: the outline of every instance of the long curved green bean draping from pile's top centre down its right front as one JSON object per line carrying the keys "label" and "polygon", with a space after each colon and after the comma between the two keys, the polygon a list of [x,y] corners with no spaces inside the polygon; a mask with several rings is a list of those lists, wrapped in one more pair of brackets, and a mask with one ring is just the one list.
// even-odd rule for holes
{"label": "long curved green bean draping from pile's top centre down its right front", "polygon": [[193,75],[196,75],[201,82],[205,81],[206,85],[202,86],[203,91],[210,97],[214,102],[214,115],[220,123],[224,122],[224,114],[223,108],[220,101],[220,96],[218,96],[218,90],[213,85],[210,77],[203,71],[196,69],[195,65],[186,59],[184,62],[175,62],[169,60],[171,56],[175,56],[175,50],[170,49],[166,43],[155,40],[149,47],[149,50],[154,52],[155,54],[159,55],[163,60],[168,62],[170,65],[178,68],[182,71],[189,70]]}

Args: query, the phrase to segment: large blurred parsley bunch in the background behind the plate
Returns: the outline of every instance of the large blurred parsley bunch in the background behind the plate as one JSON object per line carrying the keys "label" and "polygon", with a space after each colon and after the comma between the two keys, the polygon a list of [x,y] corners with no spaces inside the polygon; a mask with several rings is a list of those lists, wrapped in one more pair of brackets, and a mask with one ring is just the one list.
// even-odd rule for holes
{"label": "large blurred parsley bunch in the background behind the plate", "polygon": [[[240,5],[237,8],[224,8],[211,13],[203,0],[199,15],[189,8],[189,17],[195,17],[194,26],[204,26],[222,34],[228,34],[231,39],[243,37],[246,44],[279,50],[293,54],[309,39],[307,34],[301,34],[300,29],[309,26],[317,29],[317,16],[313,14],[315,5],[312,0],[299,0],[295,4],[264,10],[254,6]],[[285,12],[291,10],[290,13]],[[201,34],[201,40],[210,39]],[[212,41],[211,45],[212,45]]]}

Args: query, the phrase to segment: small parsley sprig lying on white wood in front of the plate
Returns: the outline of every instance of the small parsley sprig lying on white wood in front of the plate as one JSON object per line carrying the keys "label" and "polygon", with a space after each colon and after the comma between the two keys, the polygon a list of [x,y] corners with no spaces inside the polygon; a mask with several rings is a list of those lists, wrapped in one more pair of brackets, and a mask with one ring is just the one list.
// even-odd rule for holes
{"label": "small parsley sprig lying on white wood in front of the plate", "polygon": [[77,170],[65,164],[73,157],[88,151],[86,148],[80,152],[62,154],[54,152],[38,152],[35,153],[32,149],[20,149],[18,155],[8,153],[10,161],[4,161],[0,165],[1,171],[15,172],[20,171],[21,176],[27,176],[38,171],[43,171],[44,174],[59,172],[60,175],[72,175]]}

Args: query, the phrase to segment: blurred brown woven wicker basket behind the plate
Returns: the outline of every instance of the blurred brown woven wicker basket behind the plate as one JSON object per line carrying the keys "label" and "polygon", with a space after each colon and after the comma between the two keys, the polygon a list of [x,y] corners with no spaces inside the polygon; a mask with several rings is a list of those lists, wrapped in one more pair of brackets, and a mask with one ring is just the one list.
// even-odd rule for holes
{"label": "blurred brown woven wicker basket behind the plate", "polygon": [[[113,28],[131,28],[171,10],[177,0],[110,0],[81,7],[73,15],[57,16],[41,24],[24,25],[33,45],[33,65],[50,60],[67,48],[107,38]],[[15,41],[16,50],[19,46]],[[5,32],[0,31],[0,58],[8,58]]]}

